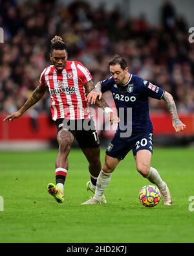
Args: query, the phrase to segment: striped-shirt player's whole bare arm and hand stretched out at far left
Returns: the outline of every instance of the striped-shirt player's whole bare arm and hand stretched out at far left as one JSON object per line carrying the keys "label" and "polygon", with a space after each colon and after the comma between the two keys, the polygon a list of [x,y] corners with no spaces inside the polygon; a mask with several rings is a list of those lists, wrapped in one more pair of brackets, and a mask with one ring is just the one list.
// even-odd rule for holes
{"label": "striped-shirt player's whole bare arm and hand stretched out at far left", "polygon": [[27,111],[28,108],[36,104],[36,102],[38,102],[43,97],[46,90],[46,86],[42,86],[41,84],[39,84],[38,87],[36,87],[36,89],[33,91],[30,98],[27,100],[27,102],[25,102],[25,104],[21,107],[21,109],[12,113],[11,115],[7,115],[5,119],[3,119],[3,121],[13,121],[16,118],[21,117],[21,115],[23,115],[23,113],[25,113],[25,111]]}

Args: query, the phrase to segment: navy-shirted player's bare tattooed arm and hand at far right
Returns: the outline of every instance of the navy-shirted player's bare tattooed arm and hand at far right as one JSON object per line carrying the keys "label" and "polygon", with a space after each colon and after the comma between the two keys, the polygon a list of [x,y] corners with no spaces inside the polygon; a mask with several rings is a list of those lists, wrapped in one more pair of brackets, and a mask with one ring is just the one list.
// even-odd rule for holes
{"label": "navy-shirted player's bare tattooed arm and hand at far right", "polygon": [[173,96],[170,93],[167,93],[167,91],[165,91],[162,99],[166,101],[167,108],[171,113],[171,116],[173,119],[173,127],[175,128],[175,131],[176,132],[183,131],[186,128],[186,125],[183,124],[178,118],[177,108],[176,108],[175,100],[173,99]]}

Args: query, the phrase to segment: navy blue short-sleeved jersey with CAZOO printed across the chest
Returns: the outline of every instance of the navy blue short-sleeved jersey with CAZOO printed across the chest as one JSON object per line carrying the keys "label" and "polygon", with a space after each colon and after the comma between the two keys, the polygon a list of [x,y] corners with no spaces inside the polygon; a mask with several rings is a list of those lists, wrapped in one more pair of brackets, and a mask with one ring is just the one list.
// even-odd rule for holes
{"label": "navy blue short-sleeved jersey with CAZOO printed across the chest", "polygon": [[[164,95],[164,89],[151,84],[151,82],[142,79],[140,76],[130,76],[129,82],[125,86],[116,84],[113,76],[101,82],[102,93],[111,91],[115,102],[118,115],[120,108],[124,108],[124,124],[127,126],[127,108],[132,108],[132,134],[135,132],[152,131],[153,124],[149,117],[148,97],[161,99]],[[118,126],[119,132],[119,126]]]}

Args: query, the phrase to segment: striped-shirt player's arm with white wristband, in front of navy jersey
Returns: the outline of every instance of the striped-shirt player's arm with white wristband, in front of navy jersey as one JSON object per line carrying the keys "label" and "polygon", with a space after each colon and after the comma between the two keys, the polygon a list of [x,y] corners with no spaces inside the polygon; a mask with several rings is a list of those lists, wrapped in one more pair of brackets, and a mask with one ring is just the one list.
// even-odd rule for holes
{"label": "striped-shirt player's arm with white wristband, in front of navy jersey", "polygon": [[[86,84],[84,84],[84,87],[85,87],[87,93],[90,93],[94,89],[94,83],[91,80],[91,81],[87,82]],[[95,99],[93,102],[91,102],[91,104],[94,104],[94,103],[99,108],[102,108],[102,110],[104,110],[105,113],[107,113],[107,118],[109,119],[111,124],[113,124],[113,122],[114,123],[120,122],[120,119],[118,118],[118,116],[113,113],[113,110],[111,110],[111,108],[109,108],[109,105],[107,104],[107,102],[105,102],[105,100],[103,98],[101,98],[101,99],[98,98],[98,99]]]}

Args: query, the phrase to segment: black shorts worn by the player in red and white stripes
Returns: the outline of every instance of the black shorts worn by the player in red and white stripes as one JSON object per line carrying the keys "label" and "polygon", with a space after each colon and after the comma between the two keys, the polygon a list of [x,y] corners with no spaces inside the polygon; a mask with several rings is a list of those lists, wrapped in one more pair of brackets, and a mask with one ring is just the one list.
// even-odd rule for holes
{"label": "black shorts worn by the player in red and white stripes", "polygon": [[93,119],[69,120],[60,118],[55,123],[58,132],[63,128],[69,130],[78,141],[80,148],[98,148],[100,146]]}

